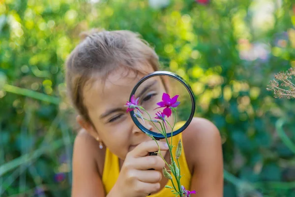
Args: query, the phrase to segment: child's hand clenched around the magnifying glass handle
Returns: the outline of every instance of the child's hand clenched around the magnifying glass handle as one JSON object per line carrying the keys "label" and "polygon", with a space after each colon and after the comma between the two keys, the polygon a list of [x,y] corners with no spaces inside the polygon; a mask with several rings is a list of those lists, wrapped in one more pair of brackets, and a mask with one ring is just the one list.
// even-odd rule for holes
{"label": "child's hand clenched around the magnifying glass handle", "polygon": [[[166,143],[158,141],[158,144],[161,150],[168,150]],[[156,142],[149,140],[130,151],[110,193],[113,193],[114,196],[116,193],[118,197],[146,197],[148,194],[158,191],[160,189],[159,182],[162,179],[160,171],[165,166],[165,162],[159,156],[147,156],[149,152],[158,150]],[[150,168],[155,170],[148,170]]]}

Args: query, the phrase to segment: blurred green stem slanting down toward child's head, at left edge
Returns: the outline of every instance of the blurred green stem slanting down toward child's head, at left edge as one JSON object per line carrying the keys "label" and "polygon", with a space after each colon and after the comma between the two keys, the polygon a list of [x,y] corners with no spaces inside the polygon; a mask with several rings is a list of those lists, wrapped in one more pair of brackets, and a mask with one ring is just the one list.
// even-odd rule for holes
{"label": "blurred green stem slanting down toward child's head, at left edge", "polygon": [[53,104],[56,104],[56,105],[58,105],[59,101],[60,101],[59,98],[52,97],[52,96],[49,96],[49,95],[45,95],[45,94],[35,92],[35,91],[32,91],[32,90],[28,90],[28,89],[25,89],[25,88],[12,86],[12,85],[9,85],[9,84],[5,84],[4,87],[3,87],[3,90],[5,90],[6,92],[13,93],[13,94],[23,95],[23,96],[30,97],[30,98],[33,98],[33,99],[38,99],[38,100],[50,102],[50,103],[53,103]]}

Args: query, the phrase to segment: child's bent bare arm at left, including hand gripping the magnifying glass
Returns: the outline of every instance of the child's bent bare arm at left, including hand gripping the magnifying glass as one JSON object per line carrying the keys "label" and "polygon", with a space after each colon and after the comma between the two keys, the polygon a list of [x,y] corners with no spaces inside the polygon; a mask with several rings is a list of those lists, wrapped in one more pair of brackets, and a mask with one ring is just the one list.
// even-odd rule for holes
{"label": "child's bent bare arm at left, including hand gripping the magnifying glass", "polygon": [[[164,142],[158,143],[161,150],[168,150]],[[157,156],[145,157],[158,150],[153,140],[142,142],[130,151],[121,167],[118,180],[107,197],[146,197],[160,187],[164,161]],[[79,133],[73,153],[72,197],[105,197],[101,181],[105,152],[88,133]]]}

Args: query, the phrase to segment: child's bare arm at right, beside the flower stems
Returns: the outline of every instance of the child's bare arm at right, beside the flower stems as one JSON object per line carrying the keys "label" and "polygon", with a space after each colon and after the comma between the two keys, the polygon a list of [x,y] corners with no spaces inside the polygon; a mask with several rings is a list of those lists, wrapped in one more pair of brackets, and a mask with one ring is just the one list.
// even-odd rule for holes
{"label": "child's bare arm at right, beside the flower stems", "polygon": [[198,197],[222,197],[223,157],[218,129],[210,121],[198,118],[187,135],[184,143],[192,150],[188,157],[193,163],[191,190],[196,190]]}

